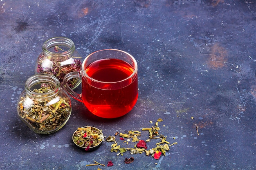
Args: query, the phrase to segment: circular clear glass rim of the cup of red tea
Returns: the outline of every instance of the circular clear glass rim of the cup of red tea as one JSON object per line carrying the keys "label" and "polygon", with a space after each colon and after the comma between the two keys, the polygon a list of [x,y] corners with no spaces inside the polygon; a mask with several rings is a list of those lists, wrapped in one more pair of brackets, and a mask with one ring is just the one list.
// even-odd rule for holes
{"label": "circular clear glass rim of the cup of red tea", "polygon": [[[119,52],[121,52],[121,53],[125,53],[126,55],[128,55],[128,56],[132,59],[134,65],[135,65],[135,68],[134,68],[133,73],[132,73],[129,77],[126,77],[125,79],[122,79],[122,80],[117,81],[117,82],[103,82],[103,81],[99,81],[99,80],[97,80],[97,79],[94,79],[94,78],[90,77],[90,76],[85,72],[84,66],[85,66],[85,62],[88,60],[88,58],[89,58],[91,55],[95,54],[95,53],[99,53],[99,52],[101,52],[101,51],[107,51],[107,50],[110,50],[110,51],[119,51]],[[81,69],[82,77],[83,77],[83,75],[85,75],[85,77],[87,77],[87,78],[90,79],[91,81],[97,82],[97,83],[102,83],[102,84],[115,84],[115,83],[124,82],[124,81],[126,81],[126,80],[128,80],[128,79],[134,77],[134,75],[137,74],[137,71],[138,71],[138,65],[137,65],[137,62],[136,62],[135,58],[134,58],[132,55],[130,55],[129,53],[127,53],[127,52],[125,52],[125,51],[122,51],[122,50],[118,50],[118,49],[103,49],[103,50],[99,50],[99,51],[95,51],[95,52],[93,52],[93,53],[90,53],[87,57],[85,57],[85,60],[83,60],[82,69]]]}

